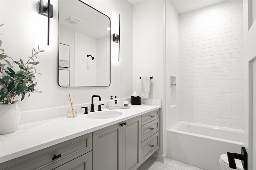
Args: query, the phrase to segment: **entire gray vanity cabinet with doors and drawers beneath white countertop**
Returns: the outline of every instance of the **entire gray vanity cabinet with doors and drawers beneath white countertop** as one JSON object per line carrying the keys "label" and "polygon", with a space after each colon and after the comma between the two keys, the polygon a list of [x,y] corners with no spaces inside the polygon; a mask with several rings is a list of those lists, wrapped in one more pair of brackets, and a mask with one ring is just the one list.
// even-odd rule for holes
{"label": "entire gray vanity cabinet with doors and drawers beneath white countertop", "polygon": [[159,117],[156,109],[3,162],[0,170],[136,170],[159,149]]}

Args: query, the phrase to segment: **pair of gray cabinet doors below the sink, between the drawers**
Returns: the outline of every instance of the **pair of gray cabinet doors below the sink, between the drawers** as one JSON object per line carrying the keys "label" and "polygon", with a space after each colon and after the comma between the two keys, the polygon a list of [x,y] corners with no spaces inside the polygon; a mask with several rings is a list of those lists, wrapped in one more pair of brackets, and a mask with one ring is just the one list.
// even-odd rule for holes
{"label": "pair of gray cabinet doors below the sink, between the drawers", "polygon": [[141,164],[141,116],[94,131],[93,170],[132,170]]}

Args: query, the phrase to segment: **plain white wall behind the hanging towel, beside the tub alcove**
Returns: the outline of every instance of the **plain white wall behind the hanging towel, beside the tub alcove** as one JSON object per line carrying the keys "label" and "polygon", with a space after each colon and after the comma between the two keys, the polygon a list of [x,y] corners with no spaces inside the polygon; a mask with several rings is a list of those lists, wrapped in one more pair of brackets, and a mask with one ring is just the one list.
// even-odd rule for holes
{"label": "plain white wall behind the hanging towel, beside the tub alcove", "polygon": [[140,96],[140,77],[153,76],[150,98],[162,100],[160,159],[166,156],[164,16],[162,0],[145,0],[133,6],[133,90]]}

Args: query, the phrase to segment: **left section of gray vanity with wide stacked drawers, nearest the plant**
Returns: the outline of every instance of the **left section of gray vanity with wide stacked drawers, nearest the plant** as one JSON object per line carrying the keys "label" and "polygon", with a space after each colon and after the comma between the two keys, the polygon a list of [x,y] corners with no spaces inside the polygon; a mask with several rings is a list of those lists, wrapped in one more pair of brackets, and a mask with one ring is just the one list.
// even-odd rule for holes
{"label": "left section of gray vanity with wide stacked drawers, nearest the plant", "polygon": [[92,133],[1,163],[1,170],[91,170]]}

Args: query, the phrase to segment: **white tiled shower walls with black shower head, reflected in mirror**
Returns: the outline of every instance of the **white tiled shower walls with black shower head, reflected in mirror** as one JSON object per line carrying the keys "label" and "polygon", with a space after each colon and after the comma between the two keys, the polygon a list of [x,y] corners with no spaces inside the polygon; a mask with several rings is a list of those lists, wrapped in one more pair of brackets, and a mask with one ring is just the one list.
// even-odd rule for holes
{"label": "white tiled shower walls with black shower head, reflected in mirror", "polygon": [[[108,86],[109,82],[109,36],[96,39],[75,32],[75,85]],[[92,55],[95,59],[92,60]]]}

